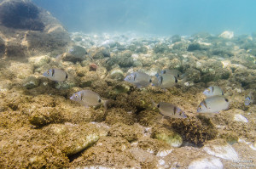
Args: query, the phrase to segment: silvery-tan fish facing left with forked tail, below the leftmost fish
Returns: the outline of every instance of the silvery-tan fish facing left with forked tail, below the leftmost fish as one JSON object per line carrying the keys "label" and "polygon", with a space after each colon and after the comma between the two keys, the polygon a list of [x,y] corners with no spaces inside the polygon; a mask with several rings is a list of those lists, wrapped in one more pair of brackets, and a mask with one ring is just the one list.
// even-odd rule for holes
{"label": "silvery-tan fish facing left with forked tail, below the leftmost fish", "polygon": [[105,110],[108,108],[107,104],[109,100],[102,99],[98,93],[91,90],[81,90],[77,93],[73,93],[70,99],[84,105],[86,108],[100,104],[103,104]]}

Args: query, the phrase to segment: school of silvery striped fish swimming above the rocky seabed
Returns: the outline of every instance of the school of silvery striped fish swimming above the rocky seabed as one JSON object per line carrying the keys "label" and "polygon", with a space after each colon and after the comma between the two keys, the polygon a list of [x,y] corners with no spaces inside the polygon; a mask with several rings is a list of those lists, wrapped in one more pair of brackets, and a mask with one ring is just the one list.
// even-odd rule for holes
{"label": "school of silvery striped fish swimming above the rocky seabed", "polygon": [[[67,72],[62,69],[52,68],[46,70],[43,74],[51,81],[65,82],[67,80]],[[160,87],[162,89],[183,85],[186,82],[187,76],[179,70],[160,70],[154,76],[149,76],[142,71],[135,71],[125,76],[125,82],[130,82],[138,88],[141,87]],[[228,110],[230,106],[229,99],[224,96],[223,90],[218,86],[207,87],[202,92],[207,98],[202,100],[197,108],[197,113],[218,113],[220,110]],[[91,90],[81,90],[73,93],[71,100],[84,105],[86,108],[102,104],[107,110],[108,99],[102,99],[98,93]],[[172,118],[186,118],[184,111],[172,103],[159,102],[158,104],[152,101],[152,106],[160,110],[161,115]],[[245,99],[245,105],[253,103],[252,93],[249,93]]]}

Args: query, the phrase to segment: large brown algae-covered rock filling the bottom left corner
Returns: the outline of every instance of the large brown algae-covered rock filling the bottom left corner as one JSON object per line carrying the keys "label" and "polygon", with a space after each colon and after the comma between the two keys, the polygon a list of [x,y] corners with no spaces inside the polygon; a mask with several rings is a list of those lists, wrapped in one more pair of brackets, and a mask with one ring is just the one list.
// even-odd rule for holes
{"label": "large brown algae-covered rock filling the bottom left corner", "polygon": [[63,168],[67,155],[56,146],[57,137],[45,132],[20,127],[7,134],[0,131],[0,156],[3,168]]}

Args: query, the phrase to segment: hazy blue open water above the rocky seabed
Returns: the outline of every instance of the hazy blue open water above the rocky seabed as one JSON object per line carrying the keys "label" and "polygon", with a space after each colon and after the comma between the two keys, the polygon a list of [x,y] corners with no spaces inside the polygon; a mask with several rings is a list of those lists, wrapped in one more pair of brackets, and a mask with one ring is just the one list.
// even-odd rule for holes
{"label": "hazy blue open water above the rocky seabed", "polygon": [[255,0],[33,0],[68,31],[157,35],[256,31]]}

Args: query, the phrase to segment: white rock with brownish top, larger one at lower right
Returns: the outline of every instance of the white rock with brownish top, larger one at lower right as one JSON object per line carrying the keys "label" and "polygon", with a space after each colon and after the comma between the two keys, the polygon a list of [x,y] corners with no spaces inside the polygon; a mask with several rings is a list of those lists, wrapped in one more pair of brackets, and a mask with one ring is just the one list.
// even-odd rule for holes
{"label": "white rock with brownish top, larger one at lower right", "polygon": [[209,155],[214,155],[228,161],[238,161],[236,150],[230,144],[221,139],[209,141],[203,149]]}

